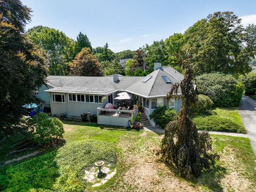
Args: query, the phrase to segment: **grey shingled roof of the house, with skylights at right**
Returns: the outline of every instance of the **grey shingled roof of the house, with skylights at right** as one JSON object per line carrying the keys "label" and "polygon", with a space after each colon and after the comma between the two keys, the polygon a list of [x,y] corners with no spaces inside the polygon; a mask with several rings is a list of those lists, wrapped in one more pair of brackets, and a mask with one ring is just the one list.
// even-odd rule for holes
{"label": "grey shingled roof of the house, with skylights at right", "polygon": [[[167,77],[170,82],[166,83],[163,77]],[[146,78],[149,78],[148,81],[143,82]],[[119,90],[150,98],[166,95],[173,84],[182,81],[183,75],[172,67],[162,67],[146,77],[119,75],[118,79],[114,82],[113,75],[103,77],[49,76],[47,84],[53,88],[46,91],[106,95]]]}

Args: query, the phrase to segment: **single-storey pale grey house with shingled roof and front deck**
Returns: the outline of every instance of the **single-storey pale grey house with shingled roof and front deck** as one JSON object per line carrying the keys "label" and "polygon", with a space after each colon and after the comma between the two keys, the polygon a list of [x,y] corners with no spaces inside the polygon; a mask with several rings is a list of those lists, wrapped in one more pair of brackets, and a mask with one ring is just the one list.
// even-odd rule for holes
{"label": "single-storey pale grey house with shingled roof and front deck", "polygon": [[[161,67],[161,63],[155,63],[154,71],[146,77],[118,74],[103,77],[49,76],[46,85],[40,87],[38,97],[51,107],[51,113],[55,116],[81,116],[90,111],[97,114],[99,124],[127,126],[137,111],[105,109],[106,103],[116,106],[118,100],[114,98],[117,94],[127,92],[142,103],[148,119],[159,106],[169,106],[179,111],[181,99],[167,102],[166,93],[182,79],[183,75],[177,70]],[[102,101],[103,97],[105,101]],[[150,124],[155,126],[152,120]]]}

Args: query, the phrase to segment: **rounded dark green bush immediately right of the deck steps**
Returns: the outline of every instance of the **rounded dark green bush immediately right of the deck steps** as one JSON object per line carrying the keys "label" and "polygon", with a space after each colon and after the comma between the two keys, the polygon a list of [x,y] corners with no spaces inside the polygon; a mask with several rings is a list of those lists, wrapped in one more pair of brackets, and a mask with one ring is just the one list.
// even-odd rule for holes
{"label": "rounded dark green bush immediately right of the deck steps", "polygon": [[173,121],[175,115],[177,115],[175,109],[163,106],[155,109],[149,117],[150,119],[153,119],[156,124],[161,126],[162,129],[164,129],[167,123]]}

